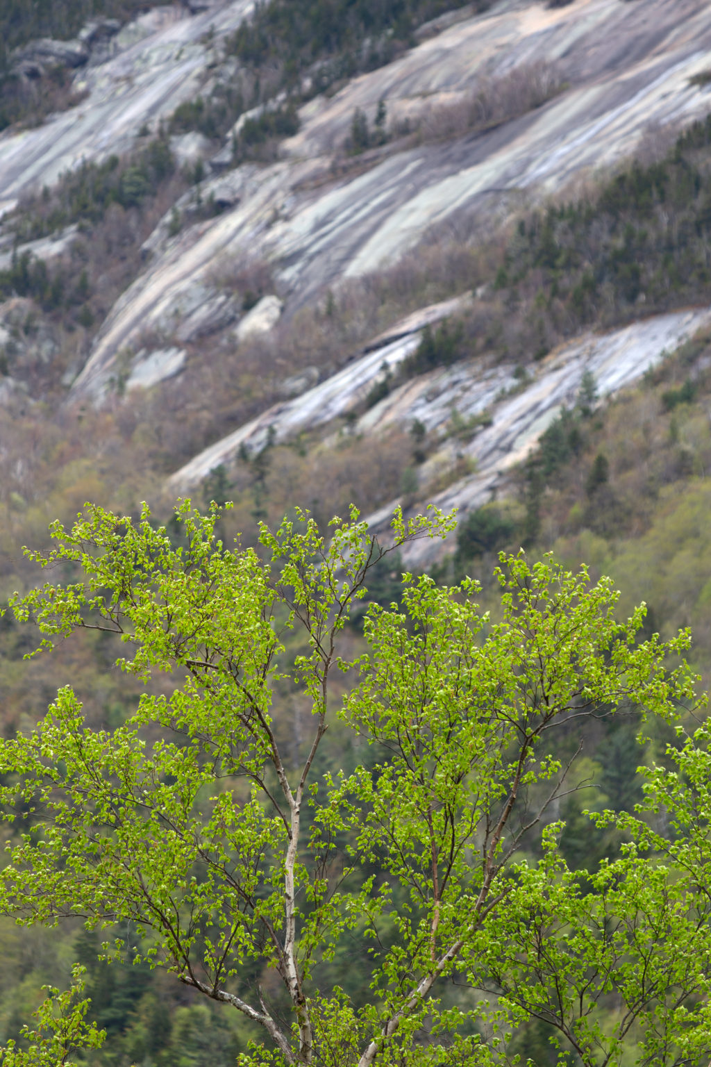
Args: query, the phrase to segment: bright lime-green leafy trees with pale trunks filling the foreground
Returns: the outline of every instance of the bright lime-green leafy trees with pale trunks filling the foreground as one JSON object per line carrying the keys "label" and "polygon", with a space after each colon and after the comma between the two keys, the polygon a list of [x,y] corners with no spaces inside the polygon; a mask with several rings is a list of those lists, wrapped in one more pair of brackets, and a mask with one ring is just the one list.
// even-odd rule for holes
{"label": "bright lime-green leafy trees with pale trunks filling the foreground", "polygon": [[[14,599],[41,647],[96,627],[126,646],[124,670],[173,682],[113,733],[90,729],[65,687],[36,730],[2,742],[0,800],[27,823],[3,909],[135,924],[138,962],[259,1029],[243,1064],[484,1067],[506,1062],[512,1028],[542,1019],[562,1055],[598,1067],[620,1062],[640,1018],[661,1035],[637,1042],[656,1056],[640,1062],[700,1063],[684,1052],[692,1031],[708,1060],[706,897],[644,842],[570,872],[550,822],[576,759],[553,738],[621,707],[674,721],[693,675],[665,660],[688,635],[640,642],[644,608],[615,621],[608,579],[519,554],[497,570],[499,622],[473,580],[405,574],[402,604],[371,605],[349,658],[370,571],[453,521],[397,512],[383,548],[355,510],[328,540],[300,512],[262,525],[258,553],[216,540],[217,515],[180,504],[175,547],[147,508],[133,522],[87,506],[31,554],[75,572]],[[294,691],[311,711],[296,753],[279,711]],[[335,771],[324,738],[338,730],[361,747]],[[358,941],[370,962],[353,998],[320,976]],[[629,1005],[624,1025],[600,1015],[611,994]]]}

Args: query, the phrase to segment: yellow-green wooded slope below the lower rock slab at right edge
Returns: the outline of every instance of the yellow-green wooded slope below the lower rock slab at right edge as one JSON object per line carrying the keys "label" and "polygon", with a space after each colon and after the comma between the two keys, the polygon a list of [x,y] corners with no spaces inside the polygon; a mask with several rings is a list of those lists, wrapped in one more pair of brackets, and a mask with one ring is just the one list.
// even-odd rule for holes
{"label": "yellow-green wooded slope below the lower rock slab at right edge", "polygon": [[[613,402],[589,410],[581,392],[518,473],[517,498],[484,509],[502,511],[514,530],[502,529],[482,560],[464,531],[494,519],[479,512],[460,525],[456,573],[484,578],[494,553],[522,543],[534,557],[554,548],[570,564],[586,558],[595,574],[614,577],[626,609],[646,600],[651,630],[693,625],[694,663],[708,686],[710,355],[701,334]],[[684,399],[669,403],[669,395]]]}

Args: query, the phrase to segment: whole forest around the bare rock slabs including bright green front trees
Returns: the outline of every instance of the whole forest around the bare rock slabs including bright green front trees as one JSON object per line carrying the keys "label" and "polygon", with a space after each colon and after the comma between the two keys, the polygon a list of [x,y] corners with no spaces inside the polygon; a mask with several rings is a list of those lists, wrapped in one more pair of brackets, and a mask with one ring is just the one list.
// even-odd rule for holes
{"label": "whole forest around the bare rock slabs including bright green front trees", "polygon": [[[0,127],[72,99],[61,71],[20,99],[14,49],[146,6],[0,0]],[[711,116],[485,233],[431,235],[246,343],[239,373],[216,333],[160,395],[127,399],[119,361],[103,407],[63,404],[156,227],[223,210],[171,138],[217,146],[257,109],[231,165],[274,161],[305,100],[452,6],[259,4],[227,42],[239,79],[10,218],[17,242],[74,237],[0,269],[3,1067],[711,1058],[711,333],[613,400],[587,375],[505,492],[458,520],[425,510],[473,473],[457,457],[424,481],[440,434],[354,429],[438,368],[513,361],[515,391],[581,332],[707,304]],[[553,74],[527,66],[419,126],[356,109],[335,165],[526,116],[565,92]],[[243,309],[278,290],[269,262],[216,284]],[[165,491],[279,400],[285,366],[327,377],[465,292],[327,443],[268,436],[193,503]],[[47,338],[50,363],[27,354]],[[446,435],[487,419],[453,410]],[[397,497],[373,540],[362,514]],[[429,573],[404,573],[411,541],[442,537]]]}

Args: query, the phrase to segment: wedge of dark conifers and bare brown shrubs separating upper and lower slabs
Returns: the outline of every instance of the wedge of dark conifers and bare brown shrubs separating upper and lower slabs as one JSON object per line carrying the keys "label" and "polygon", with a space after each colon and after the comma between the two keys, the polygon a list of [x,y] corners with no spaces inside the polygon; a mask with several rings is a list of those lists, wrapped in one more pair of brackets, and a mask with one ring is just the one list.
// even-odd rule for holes
{"label": "wedge of dark conifers and bare brown shrubs separating upper and lower slabs", "polygon": [[453,252],[449,293],[491,288],[459,324],[429,332],[401,373],[491,352],[524,366],[585,328],[705,304],[710,235],[711,116],[659,162],[633,162],[576,203],[521,218],[505,242]]}

